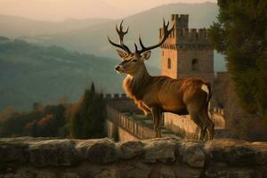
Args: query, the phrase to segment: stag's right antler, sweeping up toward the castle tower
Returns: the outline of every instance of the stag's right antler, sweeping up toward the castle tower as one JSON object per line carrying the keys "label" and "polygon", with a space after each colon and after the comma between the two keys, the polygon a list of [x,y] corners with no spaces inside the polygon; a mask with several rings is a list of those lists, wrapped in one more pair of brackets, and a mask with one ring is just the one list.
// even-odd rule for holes
{"label": "stag's right antler, sweeping up toward the castle tower", "polygon": [[146,51],[149,51],[149,50],[152,50],[154,48],[157,48],[158,46],[160,46],[161,44],[163,44],[166,41],[166,38],[170,35],[170,33],[174,29],[174,25],[173,25],[173,27],[170,30],[168,30],[168,26],[169,26],[169,21],[166,24],[165,20],[163,19],[163,34],[164,34],[164,36],[161,38],[161,40],[158,42],[158,44],[151,45],[150,47],[145,47],[142,44],[142,39],[141,39],[141,36],[139,34],[139,43],[140,43],[140,45],[142,47],[142,50],[139,51],[138,48],[137,48],[137,45],[134,44],[134,46],[135,46],[135,53],[141,54],[141,53],[144,53]]}

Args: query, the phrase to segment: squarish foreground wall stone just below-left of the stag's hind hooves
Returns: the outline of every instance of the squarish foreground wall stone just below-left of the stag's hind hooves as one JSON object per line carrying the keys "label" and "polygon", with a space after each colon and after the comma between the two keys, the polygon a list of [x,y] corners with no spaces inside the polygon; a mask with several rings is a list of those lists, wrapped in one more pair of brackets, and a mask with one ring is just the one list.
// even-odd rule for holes
{"label": "squarish foreground wall stone just below-left of the stag's hind hooves", "polygon": [[205,152],[202,142],[182,142],[179,148],[182,161],[192,167],[204,167]]}

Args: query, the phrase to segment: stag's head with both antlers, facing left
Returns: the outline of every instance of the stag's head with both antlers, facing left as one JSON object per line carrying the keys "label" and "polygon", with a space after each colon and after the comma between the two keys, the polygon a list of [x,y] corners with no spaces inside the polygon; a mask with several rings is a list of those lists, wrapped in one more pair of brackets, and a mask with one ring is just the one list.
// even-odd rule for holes
{"label": "stag's head with both antlers, facing left", "polygon": [[128,46],[124,44],[124,36],[125,36],[125,34],[128,33],[129,28],[127,28],[124,31],[122,23],[123,23],[123,20],[120,22],[119,28],[117,28],[117,25],[116,25],[116,31],[117,31],[117,34],[119,36],[119,44],[112,42],[108,36],[110,44],[122,49],[122,51],[117,50],[117,54],[122,59],[122,62],[119,63],[115,67],[115,69],[118,73],[122,72],[125,74],[134,74],[136,71],[138,71],[138,69],[140,69],[140,67],[143,65],[144,61],[146,61],[150,58],[150,54],[151,54],[150,50],[157,48],[158,46],[160,46],[161,44],[163,44],[166,41],[167,36],[169,36],[170,33],[172,32],[172,30],[174,29],[174,25],[171,29],[168,30],[169,22],[167,22],[167,24],[166,24],[165,20],[163,20],[163,34],[164,35],[162,36],[162,38],[158,42],[158,44],[152,45],[150,47],[145,47],[142,44],[142,39],[141,39],[141,36],[139,35],[139,43],[140,43],[142,49],[138,50],[137,45],[134,44],[135,52],[132,53],[130,51],[130,49],[128,48]]}

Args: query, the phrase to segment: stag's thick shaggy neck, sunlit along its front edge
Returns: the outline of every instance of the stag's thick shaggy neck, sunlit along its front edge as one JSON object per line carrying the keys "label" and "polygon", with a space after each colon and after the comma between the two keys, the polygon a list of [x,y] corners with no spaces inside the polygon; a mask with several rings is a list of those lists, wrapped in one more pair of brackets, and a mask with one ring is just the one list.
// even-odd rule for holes
{"label": "stag's thick shaggy neck, sunlit along its front edge", "polygon": [[123,87],[127,95],[137,101],[142,100],[142,96],[146,92],[147,86],[150,83],[150,74],[143,64],[133,75],[125,77]]}

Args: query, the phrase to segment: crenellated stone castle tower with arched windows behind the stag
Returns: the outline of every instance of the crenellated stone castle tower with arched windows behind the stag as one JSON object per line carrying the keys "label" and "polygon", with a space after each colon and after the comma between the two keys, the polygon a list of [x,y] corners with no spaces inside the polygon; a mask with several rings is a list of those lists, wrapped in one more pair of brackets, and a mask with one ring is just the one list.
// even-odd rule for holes
{"label": "crenellated stone castle tower with arched windows behind the stag", "polygon": [[171,25],[175,23],[175,27],[161,45],[161,74],[172,78],[200,77],[213,82],[214,49],[207,30],[188,28],[188,22],[188,14],[172,14]]}

